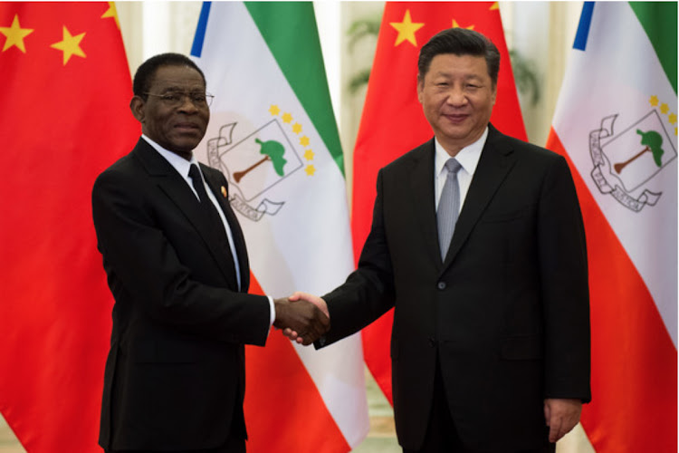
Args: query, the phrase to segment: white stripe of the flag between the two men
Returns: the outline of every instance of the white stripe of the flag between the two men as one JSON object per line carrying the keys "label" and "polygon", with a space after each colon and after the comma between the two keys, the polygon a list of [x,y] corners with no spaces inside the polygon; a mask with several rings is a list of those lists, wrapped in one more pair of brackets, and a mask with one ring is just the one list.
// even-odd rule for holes
{"label": "white stripe of the flag between the two men", "polygon": [[[231,196],[240,196],[248,206],[236,211],[257,281],[273,297],[297,290],[328,292],[353,269],[345,181],[242,3],[211,5],[196,62],[206,73],[208,92],[215,94],[199,159],[214,166],[207,157],[213,140]],[[273,171],[272,162],[245,172],[262,158],[247,148],[253,138],[282,143],[287,160],[283,177]],[[238,172],[244,176],[236,182]],[[275,213],[257,213],[263,202]],[[295,350],[355,447],[368,431],[359,334],[320,351]]]}

